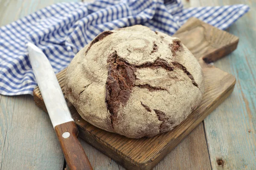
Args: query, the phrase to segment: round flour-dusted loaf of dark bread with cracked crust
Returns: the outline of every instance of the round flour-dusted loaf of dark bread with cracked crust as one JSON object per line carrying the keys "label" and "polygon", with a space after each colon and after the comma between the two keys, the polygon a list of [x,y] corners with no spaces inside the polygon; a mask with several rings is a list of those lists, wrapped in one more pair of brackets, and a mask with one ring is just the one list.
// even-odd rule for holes
{"label": "round flour-dusted loaf of dark bread with cracked crust", "polygon": [[197,108],[204,77],[178,38],[136,25],[104,31],[81,49],[67,69],[65,93],[92,125],[151,137]]}

